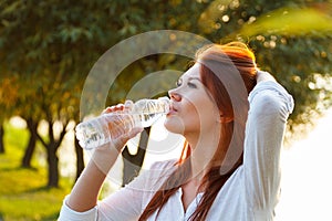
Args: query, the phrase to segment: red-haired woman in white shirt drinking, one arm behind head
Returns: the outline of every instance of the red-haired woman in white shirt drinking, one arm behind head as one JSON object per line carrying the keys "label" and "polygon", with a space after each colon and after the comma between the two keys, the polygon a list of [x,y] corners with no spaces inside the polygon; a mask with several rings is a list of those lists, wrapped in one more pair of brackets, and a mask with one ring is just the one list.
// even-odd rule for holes
{"label": "red-haired woman in white shirt drinking, one arm behind head", "polygon": [[155,162],[97,202],[123,146],[142,130],[135,128],[95,150],[59,220],[273,220],[292,97],[239,42],[201,49],[169,97],[164,125],[186,139],[179,160]]}

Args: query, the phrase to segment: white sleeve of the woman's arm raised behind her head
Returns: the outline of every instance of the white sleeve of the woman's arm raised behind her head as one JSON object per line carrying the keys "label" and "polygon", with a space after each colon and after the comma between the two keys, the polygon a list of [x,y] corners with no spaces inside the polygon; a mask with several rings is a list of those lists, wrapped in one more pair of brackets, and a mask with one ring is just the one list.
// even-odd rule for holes
{"label": "white sleeve of the woman's arm raised behind her head", "polygon": [[243,154],[246,200],[256,213],[271,214],[278,203],[280,151],[293,98],[280,84],[267,81],[257,84],[249,104]]}

